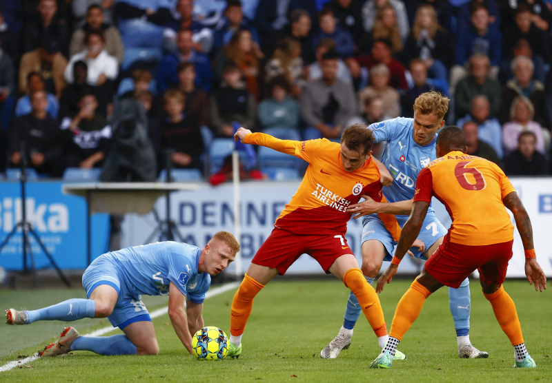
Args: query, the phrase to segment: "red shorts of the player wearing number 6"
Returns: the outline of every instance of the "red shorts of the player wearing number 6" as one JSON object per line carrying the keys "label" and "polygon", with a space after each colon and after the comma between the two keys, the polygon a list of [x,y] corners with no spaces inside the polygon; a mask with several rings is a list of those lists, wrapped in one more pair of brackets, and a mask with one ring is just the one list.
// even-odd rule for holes
{"label": "red shorts of the player wearing number 6", "polygon": [[477,269],[484,284],[504,282],[508,261],[512,258],[513,240],[494,245],[467,246],[452,243],[449,239],[449,234],[446,234],[437,251],[426,260],[426,270],[433,278],[457,289]]}

